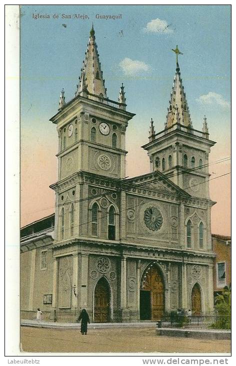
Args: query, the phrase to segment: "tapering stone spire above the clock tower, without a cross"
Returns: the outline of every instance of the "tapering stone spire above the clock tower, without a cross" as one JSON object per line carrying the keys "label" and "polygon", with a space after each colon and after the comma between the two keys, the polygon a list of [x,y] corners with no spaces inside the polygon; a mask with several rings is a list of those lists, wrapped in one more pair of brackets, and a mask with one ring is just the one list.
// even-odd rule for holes
{"label": "tapering stone spire above the clock tower, without a cross", "polygon": [[95,42],[95,31],[93,28],[90,30],[89,41],[87,45],[87,50],[85,52],[85,58],[82,64],[80,82],[77,86],[75,96],[84,92],[84,84],[86,92],[90,94],[95,94],[107,98],[106,88],[104,80],[102,78],[102,71],[99,62],[99,55],[97,52],[97,46]]}

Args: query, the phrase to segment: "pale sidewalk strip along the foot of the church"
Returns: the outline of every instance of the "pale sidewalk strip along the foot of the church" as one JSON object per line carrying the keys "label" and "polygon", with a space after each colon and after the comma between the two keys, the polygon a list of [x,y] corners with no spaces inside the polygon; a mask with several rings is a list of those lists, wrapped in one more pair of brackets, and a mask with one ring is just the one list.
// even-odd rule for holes
{"label": "pale sidewalk strip along the foot of the church", "polygon": [[[30,319],[21,319],[20,325],[22,326],[30,326],[36,328],[59,328],[59,329],[80,329],[80,323],[60,323],[53,321],[45,321],[41,320],[37,322],[37,320]],[[130,323],[90,323],[87,324],[88,329],[97,329],[97,328],[143,328],[150,327],[155,329],[156,321],[139,321],[139,322],[130,322]]]}

